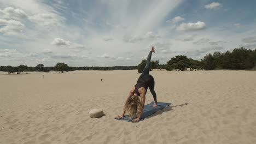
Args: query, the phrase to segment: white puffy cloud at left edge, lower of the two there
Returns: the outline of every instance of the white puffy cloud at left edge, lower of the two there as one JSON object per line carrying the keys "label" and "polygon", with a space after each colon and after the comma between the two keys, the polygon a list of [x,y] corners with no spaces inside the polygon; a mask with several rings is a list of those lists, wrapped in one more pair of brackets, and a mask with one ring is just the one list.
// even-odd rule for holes
{"label": "white puffy cloud at left edge, lower of the two there", "polygon": [[23,23],[16,20],[3,20],[0,19],[0,32],[5,35],[18,35],[22,32],[22,29],[25,27]]}

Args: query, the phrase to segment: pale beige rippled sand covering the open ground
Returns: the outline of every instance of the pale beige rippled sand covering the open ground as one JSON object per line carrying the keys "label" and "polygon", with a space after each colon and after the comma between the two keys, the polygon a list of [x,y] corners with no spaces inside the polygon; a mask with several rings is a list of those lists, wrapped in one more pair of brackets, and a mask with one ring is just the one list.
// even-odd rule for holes
{"label": "pale beige rippled sand covering the open ground", "polygon": [[136,70],[2,74],[1,144],[256,143],[256,71],[150,71],[158,101],[172,104],[139,123],[114,119]]}

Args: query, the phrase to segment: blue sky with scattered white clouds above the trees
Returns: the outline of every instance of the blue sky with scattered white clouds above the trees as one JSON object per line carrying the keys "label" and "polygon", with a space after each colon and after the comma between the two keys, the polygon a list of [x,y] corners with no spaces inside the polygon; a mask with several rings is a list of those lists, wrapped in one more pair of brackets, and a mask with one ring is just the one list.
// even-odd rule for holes
{"label": "blue sky with scattered white clouds above the trees", "polygon": [[256,49],[256,1],[0,0],[0,65],[166,64]]}

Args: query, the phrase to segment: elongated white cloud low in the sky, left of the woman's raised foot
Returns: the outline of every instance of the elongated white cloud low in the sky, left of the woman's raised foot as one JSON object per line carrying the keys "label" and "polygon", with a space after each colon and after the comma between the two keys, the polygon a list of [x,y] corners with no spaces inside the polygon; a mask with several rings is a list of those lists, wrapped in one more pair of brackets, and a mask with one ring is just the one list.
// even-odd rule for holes
{"label": "elongated white cloud low in the sky, left of the woman's raised foot", "polygon": [[51,42],[51,44],[56,45],[56,46],[65,46],[65,47],[68,47],[69,49],[77,49],[77,50],[85,49],[84,45],[77,44],[77,43],[72,43],[69,40],[64,40],[64,39],[61,39],[61,38],[55,38]]}

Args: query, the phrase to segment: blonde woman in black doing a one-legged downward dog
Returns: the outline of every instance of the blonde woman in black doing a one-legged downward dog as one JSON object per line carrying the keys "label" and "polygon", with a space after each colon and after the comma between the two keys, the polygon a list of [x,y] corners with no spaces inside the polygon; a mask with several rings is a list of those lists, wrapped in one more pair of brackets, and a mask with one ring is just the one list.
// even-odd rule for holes
{"label": "blonde woman in black doing a one-legged downward dog", "polygon": [[[135,86],[132,87],[129,97],[126,100],[126,103],[124,105],[124,110],[121,116],[116,117],[117,119],[124,118],[125,112],[129,113],[129,117],[135,119],[132,119],[132,122],[139,121],[141,119],[141,115],[144,110],[144,104],[146,100],[146,93],[147,89],[149,87],[150,92],[153,95],[153,98],[155,100],[154,107],[158,105],[158,101],[156,100],[156,93],[154,90],[155,81],[152,75],[149,75],[149,67],[150,67],[150,59],[152,52],[155,52],[154,47],[152,46],[151,51],[149,52],[147,64],[142,71],[141,76],[139,76],[138,81]],[[139,99],[141,97],[141,99]]]}

